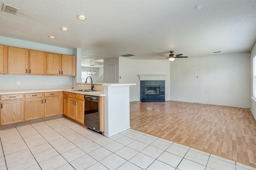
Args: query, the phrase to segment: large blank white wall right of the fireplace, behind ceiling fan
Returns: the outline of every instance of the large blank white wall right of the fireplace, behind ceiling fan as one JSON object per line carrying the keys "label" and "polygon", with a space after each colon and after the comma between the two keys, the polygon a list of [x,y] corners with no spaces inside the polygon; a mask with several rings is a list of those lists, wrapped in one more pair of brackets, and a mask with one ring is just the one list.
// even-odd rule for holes
{"label": "large blank white wall right of the fireplace, behind ceiling fan", "polygon": [[170,62],[171,100],[250,107],[250,86],[248,52]]}

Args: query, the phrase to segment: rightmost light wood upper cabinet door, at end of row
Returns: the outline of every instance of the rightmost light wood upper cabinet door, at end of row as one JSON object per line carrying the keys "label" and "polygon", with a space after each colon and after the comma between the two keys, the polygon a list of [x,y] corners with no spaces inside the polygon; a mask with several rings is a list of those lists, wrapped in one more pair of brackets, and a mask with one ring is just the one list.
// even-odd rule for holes
{"label": "rightmost light wood upper cabinet door, at end of row", "polygon": [[61,69],[63,76],[76,76],[76,56],[62,54]]}

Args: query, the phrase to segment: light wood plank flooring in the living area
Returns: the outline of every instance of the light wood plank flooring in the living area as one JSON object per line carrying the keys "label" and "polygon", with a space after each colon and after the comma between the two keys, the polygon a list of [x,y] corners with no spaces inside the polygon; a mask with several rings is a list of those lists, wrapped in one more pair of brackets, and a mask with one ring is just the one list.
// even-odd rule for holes
{"label": "light wood plank flooring in the living area", "polygon": [[256,167],[256,121],[245,108],[176,101],[130,102],[130,126]]}

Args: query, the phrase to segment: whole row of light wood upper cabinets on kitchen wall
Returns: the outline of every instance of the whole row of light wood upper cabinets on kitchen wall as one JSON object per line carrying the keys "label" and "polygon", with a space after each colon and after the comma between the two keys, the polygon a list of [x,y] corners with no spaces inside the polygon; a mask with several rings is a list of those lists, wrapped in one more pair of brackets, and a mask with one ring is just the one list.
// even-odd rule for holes
{"label": "whole row of light wood upper cabinets on kitchen wall", "polygon": [[0,74],[76,76],[76,56],[0,45]]}

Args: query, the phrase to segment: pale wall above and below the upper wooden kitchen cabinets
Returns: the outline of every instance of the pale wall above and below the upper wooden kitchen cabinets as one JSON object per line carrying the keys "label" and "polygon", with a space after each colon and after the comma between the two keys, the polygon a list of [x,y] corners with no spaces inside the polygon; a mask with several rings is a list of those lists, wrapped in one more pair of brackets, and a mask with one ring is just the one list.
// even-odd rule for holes
{"label": "pale wall above and below the upper wooden kitchen cabinets", "polygon": [[[65,49],[61,47],[54,47],[50,45],[34,43],[30,41],[23,41],[20,39],[13,39],[0,36],[0,44],[13,47],[20,47],[26,49],[34,49],[40,51],[48,51],[52,53],[60,53],[72,55],[72,49]],[[20,80],[20,85],[16,85],[16,81]],[[59,83],[62,80],[62,84]],[[0,74],[0,88],[22,88],[27,86],[72,86],[71,76],[35,76],[35,75],[11,75]]]}

